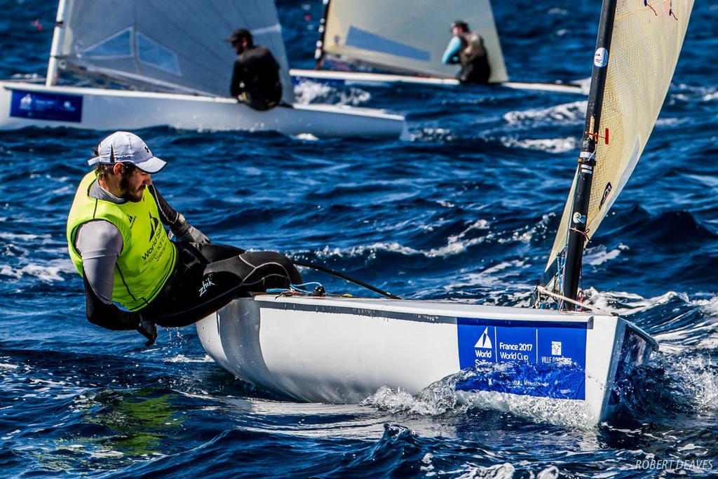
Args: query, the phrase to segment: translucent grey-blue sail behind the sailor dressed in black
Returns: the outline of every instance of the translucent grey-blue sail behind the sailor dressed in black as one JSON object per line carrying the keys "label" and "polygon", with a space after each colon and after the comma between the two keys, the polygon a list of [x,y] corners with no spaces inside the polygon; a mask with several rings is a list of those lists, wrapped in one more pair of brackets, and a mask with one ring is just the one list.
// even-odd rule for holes
{"label": "translucent grey-blue sail behind the sailor dressed in black", "polygon": [[234,49],[225,38],[252,32],[281,65],[293,100],[281,26],[272,0],[63,0],[60,65],[161,90],[228,96]]}

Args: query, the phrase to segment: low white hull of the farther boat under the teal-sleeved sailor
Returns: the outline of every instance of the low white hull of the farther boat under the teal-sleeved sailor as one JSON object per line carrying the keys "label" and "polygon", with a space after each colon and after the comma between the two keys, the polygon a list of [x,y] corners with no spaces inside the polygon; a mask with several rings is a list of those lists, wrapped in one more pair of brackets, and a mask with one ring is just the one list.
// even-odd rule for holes
{"label": "low white hull of the farther boat under the teal-sleeved sailor", "polygon": [[[411,75],[393,75],[388,73],[365,73],[365,72],[345,72],[333,70],[289,70],[294,82],[302,80],[312,80],[319,83],[330,83],[332,85],[444,85],[457,86],[460,85],[459,80],[455,78],[436,78],[436,77],[418,77]],[[566,83],[537,83],[537,82],[503,82],[493,83],[503,88],[512,88],[514,90],[535,90],[535,91],[552,91],[556,93],[573,93],[577,95],[588,95],[587,87],[584,85],[574,85]]]}

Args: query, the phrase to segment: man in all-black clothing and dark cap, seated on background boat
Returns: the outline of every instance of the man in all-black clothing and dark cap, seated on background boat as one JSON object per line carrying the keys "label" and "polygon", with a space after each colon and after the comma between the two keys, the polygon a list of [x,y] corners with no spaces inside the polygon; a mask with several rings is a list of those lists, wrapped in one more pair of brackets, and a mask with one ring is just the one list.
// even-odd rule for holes
{"label": "man in all-black clothing and dark cap, seated on background boat", "polygon": [[281,101],[279,62],[264,45],[254,45],[248,29],[238,28],[226,39],[237,51],[230,95],[255,110],[269,110]]}

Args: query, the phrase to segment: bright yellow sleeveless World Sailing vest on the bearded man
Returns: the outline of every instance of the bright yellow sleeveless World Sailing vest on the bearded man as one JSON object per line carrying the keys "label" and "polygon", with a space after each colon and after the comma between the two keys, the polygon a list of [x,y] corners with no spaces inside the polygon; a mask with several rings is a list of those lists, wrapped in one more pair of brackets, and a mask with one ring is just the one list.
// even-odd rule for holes
{"label": "bright yellow sleeveless World Sailing vest on the bearded man", "polygon": [[130,311],[140,310],[162,290],[174,269],[177,248],[167,238],[154,197],[144,190],[142,200],[118,205],[90,197],[97,175],[89,172],[80,182],[67,216],[67,248],[80,275],[83,259],[75,248],[80,226],[106,220],[122,234],[123,248],[115,266],[112,300]]}

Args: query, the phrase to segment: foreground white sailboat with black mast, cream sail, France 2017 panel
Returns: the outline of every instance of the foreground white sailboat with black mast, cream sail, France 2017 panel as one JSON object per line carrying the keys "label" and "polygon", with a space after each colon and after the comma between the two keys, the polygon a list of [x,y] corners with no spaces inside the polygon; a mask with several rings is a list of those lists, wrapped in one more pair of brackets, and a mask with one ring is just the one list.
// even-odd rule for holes
{"label": "foreground white sailboat with black mast, cream sail, France 2017 panel", "polygon": [[[671,3],[603,2],[581,164],[566,208],[572,224],[565,219],[556,239],[569,237],[569,266],[551,276],[554,289],[567,284],[567,297],[542,287],[536,302],[548,308],[548,297],[559,299],[559,311],[258,294],[197,323],[205,350],[236,376],[302,401],[359,401],[382,386],[415,394],[444,378],[481,406],[564,407],[593,424],[609,418],[619,402],[615,384],[657,344],[615,315],[567,311],[577,304],[571,278],[579,276],[587,215],[594,225],[610,208],[666,96],[693,6]],[[596,173],[592,190],[594,170],[605,174]],[[552,252],[549,264],[556,257],[563,256]]]}

